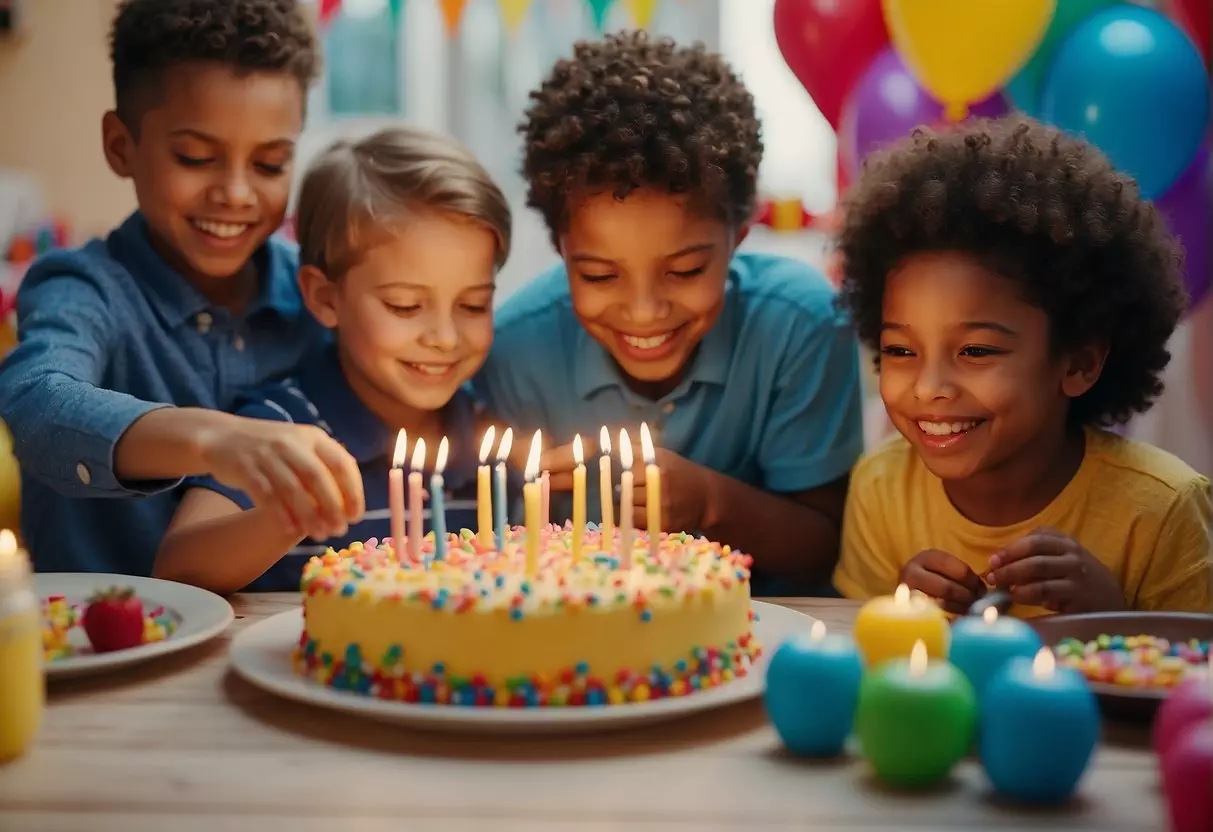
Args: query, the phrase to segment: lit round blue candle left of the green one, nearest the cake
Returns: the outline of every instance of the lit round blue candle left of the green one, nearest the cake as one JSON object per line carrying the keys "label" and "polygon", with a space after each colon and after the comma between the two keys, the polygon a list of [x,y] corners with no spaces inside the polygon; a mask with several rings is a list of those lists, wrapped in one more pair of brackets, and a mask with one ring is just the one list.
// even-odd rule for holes
{"label": "lit round blue candle left of the green one, nearest the cake", "polygon": [[850,735],[864,663],[850,638],[808,634],[779,645],[767,666],[764,702],[784,746],[802,757],[836,757]]}

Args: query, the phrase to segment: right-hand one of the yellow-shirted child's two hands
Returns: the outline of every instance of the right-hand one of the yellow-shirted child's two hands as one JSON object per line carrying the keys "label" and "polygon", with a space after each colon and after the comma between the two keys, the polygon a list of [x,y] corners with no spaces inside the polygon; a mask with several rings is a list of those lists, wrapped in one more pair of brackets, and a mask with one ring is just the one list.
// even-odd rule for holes
{"label": "right-hand one of the yellow-shirted child's two hands", "polygon": [[1107,566],[1070,535],[1037,529],[990,558],[990,583],[1016,604],[1054,612],[1124,609],[1124,591]]}

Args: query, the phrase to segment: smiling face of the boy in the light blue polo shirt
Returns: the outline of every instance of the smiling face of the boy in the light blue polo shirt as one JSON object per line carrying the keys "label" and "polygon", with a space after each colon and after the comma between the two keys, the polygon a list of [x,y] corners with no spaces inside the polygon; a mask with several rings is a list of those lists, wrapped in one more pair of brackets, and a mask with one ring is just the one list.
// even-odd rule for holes
{"label": "smiling face of the boy in the light blue polo shirt", "polygon": [[573,308],[637,391],[660,398],[677,387],[721,315],[734,238],[667,193],[576,204],[560,234]]}

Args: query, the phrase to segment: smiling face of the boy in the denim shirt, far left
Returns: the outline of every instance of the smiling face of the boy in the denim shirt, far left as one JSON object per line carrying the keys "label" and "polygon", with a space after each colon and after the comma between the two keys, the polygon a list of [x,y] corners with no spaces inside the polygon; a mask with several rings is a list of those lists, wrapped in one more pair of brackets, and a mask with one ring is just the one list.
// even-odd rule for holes
{"label": "smiling face of the boy in the denim shirt, far left", "polygon": [[137,130],[106,115],[107,160],[133,181],[161,256],[223,298],[222,283],[281,226],[303,90],[287,73],[183,63],[147,95]]}

